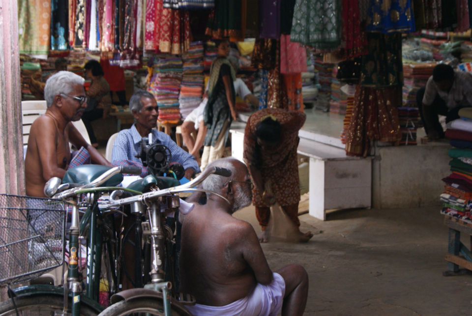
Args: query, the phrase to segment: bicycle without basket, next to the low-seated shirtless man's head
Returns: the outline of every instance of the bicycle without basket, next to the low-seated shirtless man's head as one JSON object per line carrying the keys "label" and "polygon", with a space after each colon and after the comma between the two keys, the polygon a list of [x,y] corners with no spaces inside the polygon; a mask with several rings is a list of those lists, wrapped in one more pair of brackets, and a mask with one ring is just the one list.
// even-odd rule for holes
{"label": "bicycle without basket, next to the low-seated shirtless man's head", "polygon": [[[208,175],[218,174],[230,176],[231,172],[224,168],[209,167],[196,178],[185,184],[143,193],[140,196],[124,197],[118,199],[122,192],[112,192],[109,198],[111,209],[123,205],[132,205],[139,210],[145,220],[142,223],[142,242],[149,244],[149,282],[144,288],[133,288],[118,292],[111,298],[112,305],[103,310],[100,316],[117,316],[144,313],[146,315],[191,315],[184,305],[195,304],[195,299],[183,293],[173,292],[173,284],[166,279],[166,262],[169,262],[169,252],[166,252],[166,244],[172,243],[173,234],[163,224],[166,212],[187,213],[193,208],[193,204],[180,201],[178,194],[189,191],[209,192],[195,188]],[[225,199],[221,195],[222,199]],[[225,199],[227,201],[227,199]],[[161,212],[164,205],[165,212]],[[185,207],[183,207],[185,206]],[[167,254],[167,256],[166,256]],[[140,258],[138,258],[140,260]]]}

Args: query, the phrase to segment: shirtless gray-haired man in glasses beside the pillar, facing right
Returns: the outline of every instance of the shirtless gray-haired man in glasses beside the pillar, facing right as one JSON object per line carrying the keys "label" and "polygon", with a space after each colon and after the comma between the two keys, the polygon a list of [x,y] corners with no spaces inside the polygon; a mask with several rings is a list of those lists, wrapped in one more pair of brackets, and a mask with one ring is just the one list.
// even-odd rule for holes
{"label": "shirtless gray-haired man in glasses beside the pillar, facing right", "polygon": [[87,108],[84,78],[59,71],[46,82],[44,97],[48,108],[31,125],[25,158],[26,194],[32,197],[44,197],[46,182],[64,176],[71,159],[69,142],[86,148],[92,163],[111,166],[70,123]]}

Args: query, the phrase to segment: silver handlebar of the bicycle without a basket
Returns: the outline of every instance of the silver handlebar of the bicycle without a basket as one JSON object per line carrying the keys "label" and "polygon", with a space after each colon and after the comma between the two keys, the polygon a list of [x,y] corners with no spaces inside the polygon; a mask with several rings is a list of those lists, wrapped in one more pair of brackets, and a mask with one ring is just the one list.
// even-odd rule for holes
{"label": "silver handlebar of the bicycle without a basket", "polygon": [[185,184],[179,185],[177,187],[162,189],[162,190],[159,190],[159,191],[147,192],[147,193],[144,193],[144,194],[139,195],[139,196],[132,196],[132,197],[124,198],[124,199],[121,199],[121,200],[113,199],[115,197],[115,195],[112,193],[109,197],[109,202],[110,202],[109,206],[110,207],[118,207],[118,206],[121,206],[121,205],[127,205],[127,204],[131,204],[131,203],[134,203],[134,202],[141,202],[143,204],[146,204],[146,201],[151,201],[151,200],[154,200],[156,198],[163,197],[163,196],[166,196],[166,195],[169,195],[169,194],[186,192],[186,191],[204,191],[204,192],[212,193],[212,194],[215,194],[215,195],[219,196],[220,198],[224,199],[225,201],[227,201],[229,203],[229,201],[226,198],[222,197],[221,195],[219,195],[215,192],[193,188],[193,187],[199,185],[200,183],[202,183],[202,181],[205,180],[207,178],[207,176],[210,175],[210,174],[217,174],[217,175],[221,175],[221,176],[230,176],[231,171],[228,170],[228,169],[225,169],[225,168],[220,168],[220,167],[214,167],[214,166],[207,167],[207,169],[205,169],[204,172],[200,173],[195,179],[193,179],[193,180],[191,180],[191,181],[189,181]]}

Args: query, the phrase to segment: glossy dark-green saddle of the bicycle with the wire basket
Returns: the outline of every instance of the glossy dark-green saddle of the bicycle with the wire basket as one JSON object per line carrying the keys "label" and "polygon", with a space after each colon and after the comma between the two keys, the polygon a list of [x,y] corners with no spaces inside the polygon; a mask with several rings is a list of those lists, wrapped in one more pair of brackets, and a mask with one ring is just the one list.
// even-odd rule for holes
{"label": "glossy dark-green saddle of the bicycle with the wire basket", "polygon": [[[102,165],[82,165],[75,168],[69,169],[65,172],[62,178],[62,183],[79,183],[88,184],[95,180],[98,176],[102,175],[113,167],[107,167]],[[123,175],[118,173],[108,179],[102,186],[114,187],[123,181]]]}

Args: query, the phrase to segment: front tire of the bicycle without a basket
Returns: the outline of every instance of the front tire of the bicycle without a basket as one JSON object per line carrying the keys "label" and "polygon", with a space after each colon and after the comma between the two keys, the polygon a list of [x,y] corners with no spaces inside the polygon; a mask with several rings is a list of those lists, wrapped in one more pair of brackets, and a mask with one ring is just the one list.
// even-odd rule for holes
{"label": "front tire of the bicycle without a basket", "polygon": [[[136,298],[129,301],[119,301],[103,310],[98,316],[126,316],[126,315],[164,315],[161,300],[156,298]],[[171,305],[171,315],[191,315],[181,306]]]}

